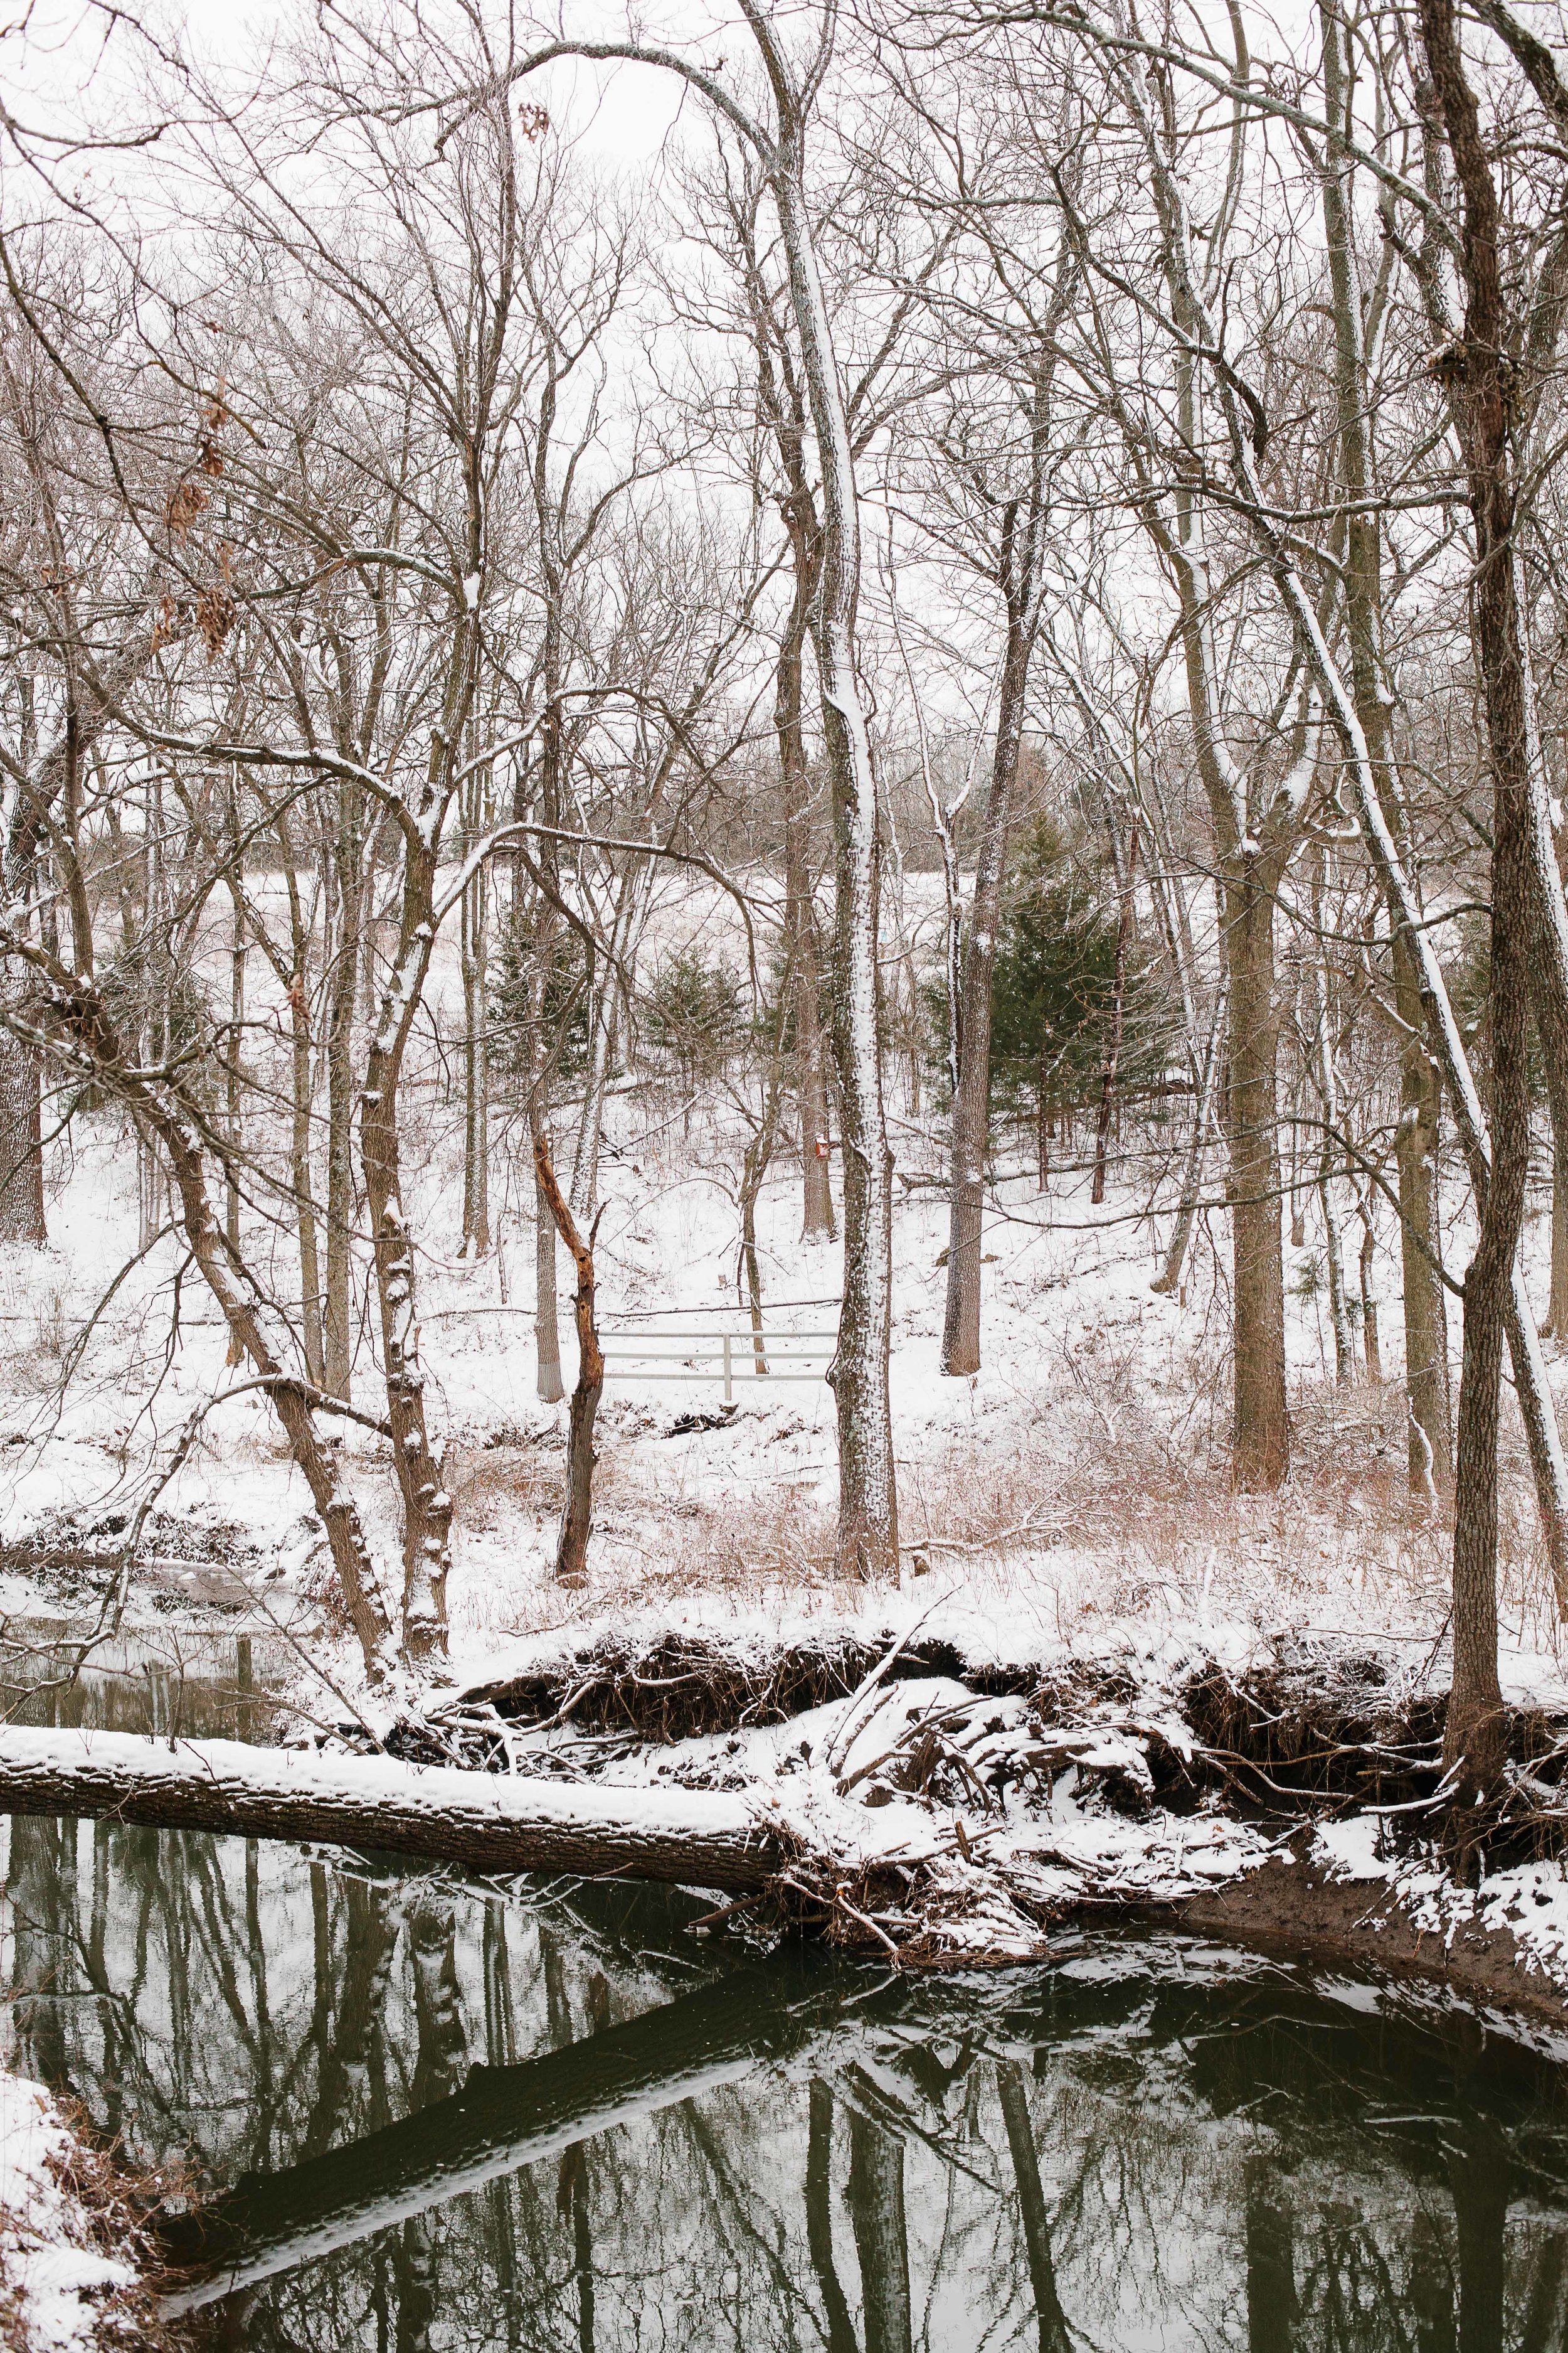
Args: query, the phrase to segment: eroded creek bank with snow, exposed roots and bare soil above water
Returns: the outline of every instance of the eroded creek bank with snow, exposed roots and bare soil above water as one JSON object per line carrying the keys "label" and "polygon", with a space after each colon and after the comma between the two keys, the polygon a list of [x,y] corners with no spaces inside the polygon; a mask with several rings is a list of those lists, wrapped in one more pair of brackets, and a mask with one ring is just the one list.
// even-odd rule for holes
{"label": "eroded creek bank with snow, exposed roots and bare soil above water", "polygon": [[[837,1835],[853,1873],[835,1906],[802,1866],[795,1918],[851,1948],[891,1944],[900,1965],[1023,1958],[1030,1932],[1048,1951],[1070,1918],[1131,1911],[1568,2019],[1568,1708],[1509,1713],[1509,1798],[1479,1885],[1455,1887],[1439,1852],[1441,1664],[1389,1647],[1291,1635],[1244,1661],[997,1666],[922,1633],[661,1631],[475,1685],[393,1746],[752,1791],[825,1845]],[[867,1840],[865,1814],[896,1824],[903,1852],[898,1835]],[[726,1925],[776,1927],[778,1906]]]}

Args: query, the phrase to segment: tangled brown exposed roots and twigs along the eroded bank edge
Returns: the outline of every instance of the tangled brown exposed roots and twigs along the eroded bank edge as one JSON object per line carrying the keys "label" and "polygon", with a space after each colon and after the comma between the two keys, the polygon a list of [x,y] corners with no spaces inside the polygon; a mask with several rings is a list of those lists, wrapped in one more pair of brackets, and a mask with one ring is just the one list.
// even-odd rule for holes
{"label": "tangled brown exposed roots and twigs along the eroded bank edge", "polygon": [[[414,1753],[515,1772],[538,1769],[536,1737],[559,1744],[571,1727],[581,1739],[555,1748],[555,1767],[578,1777],[592,1774],[611,1748],[677,1746],[792,1720],[865,1685],[879,1661],[889,1685],[940,1675],[976,1701],[1011,1704],[1011,1737],[990,1744],[994,1753],[980,1760],[980,1772],[973,1722],[957,1722],[964,1708],[954,1708],[950,1720],[922,1720],[907,1741],[837,1781],[839,1795],[870,1805],[914,1795],[952,1807],[957,1835],[947,1861],[846,1871],[830,1857],[802,1854],[769,1889],[733,1906],[724,1915],[729,1927],[788,1927],[882,1953],[900,1967],[952,1967],[987,1958],[980,1915],[999,1901],[1004,1918],[990,1958],[1023,1958],[1030,1932],[1044,1951],[1079,1901],[1100,1904],[1095,1889],[1041,1899],[1030,1873],[1009,1873],[987,1854],[980,1854],[987,1868],[957,1864],[973,1861],[964,1817],[973,1828],[976,1814],[990,1821],[1020,1798],[1039,1802],[1041,1793],[1048,1812],[1051,1791],[1070,1767],[1079,1781],[1093,1777],[1095,1802],[1133,1821],[1213,1819],[1218,1809],[1281,1838],[1293,1824],[1380,1809],[1392,1847],[1432,1845],[1448,1821],[1446,1689],[1432,1661],[1389,1666],[1366,1642],[1326,1638],[1279,1640],[1246,1671],[1211,1659],[1175,1689],[1150,1689],[1131,1664],[976,1668],[950,1642],[919,1638],[896,1654],[891,1635],[844,1633],[738,1652],[712,1638],[668,1633],[644,1647],[599,1642],[548,1673],[465,1692],[404,1739]],[[1467,1817],[1476,1871],[1568,1852],[1568,1722],[1540,1708],[1514,1711],[1507,1744],[1512,1765],[1500,1802],[1483,1821]],[[741,1786],[741,1774],[722,1786]],[[954,1845],[961,1845],[957,1857]],[[1114,1904],[1126,1908],[1124,1897]]]}

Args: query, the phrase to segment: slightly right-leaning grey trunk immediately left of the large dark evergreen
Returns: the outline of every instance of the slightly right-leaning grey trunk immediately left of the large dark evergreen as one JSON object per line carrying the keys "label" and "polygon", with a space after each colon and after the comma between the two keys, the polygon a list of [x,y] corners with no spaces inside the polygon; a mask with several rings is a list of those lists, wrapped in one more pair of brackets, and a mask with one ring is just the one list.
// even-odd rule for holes
{"label": "slightly right-leaning grey trunk immediately left of the large dark evergreen", "polygon": [[997,746],[980,826],[976,887],[964,941],[959,995],[959,1073],[952,1089],[947,1308],[943,1318],[943,1372],[980,1369],[980,1228],[985,1207],[985,1144],[990,1132],[992,972],[1001,920],[1006,835],[1018,784],[1030,631],[1023,614],[1009,614],[1001,694],[997,699]]}

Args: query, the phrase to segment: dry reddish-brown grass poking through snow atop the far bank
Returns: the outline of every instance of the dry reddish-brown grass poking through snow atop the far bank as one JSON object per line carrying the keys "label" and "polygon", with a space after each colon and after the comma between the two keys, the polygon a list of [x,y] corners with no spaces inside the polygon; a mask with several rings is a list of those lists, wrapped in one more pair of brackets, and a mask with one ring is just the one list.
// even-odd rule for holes
{"label": "dry reddish-brown grass poking through snow atop the far bank", "polygon": [[[1046,1555],[1046,1574],[1060,1555],[1060,1631],[1074,1617],[1208,1605],[1439,1635],[1450,1525],[1408,1492],[1401,1386],[1300,1384],[1288,1482],[1239,1494],[1206,1367],[1185,1372],[1175,1391],[1140,1395],[1119,1353],[1081,1353],[1023,1428],[999,1417],[994,1435],[980,1424],[940,1452],[900,1457],[905,1565],[1001,1591],[1025,1555]],[[541,1468],[552,1501],[548,1464],[534,1459],[529,1478]],[[736,1605],[802,1598],[825,1614],[863,1600],[835,1579],[835,1513],[813,1485],[670,1494],[628,1466],[604,1485],[602,1504],[583,1614],[703,1593]],[[1505,1454],[1500,1520],[1505,1635],[1552,1649],[1556,1612],[1521,1440]],[[541,1607],[552,1624],[578,1614],[559,1595],[543,1595]]]}

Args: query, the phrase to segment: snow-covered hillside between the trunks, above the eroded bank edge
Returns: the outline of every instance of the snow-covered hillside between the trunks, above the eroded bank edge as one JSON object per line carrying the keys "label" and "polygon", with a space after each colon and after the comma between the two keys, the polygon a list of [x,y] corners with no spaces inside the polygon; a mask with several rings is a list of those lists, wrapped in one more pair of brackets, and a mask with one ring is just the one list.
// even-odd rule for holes
{"label": "snow-covered hillside between the trunks, above the eroded bank edge", "polygon": [[[451,1621],[458,1673],[491,1673],[520,1633],[604,1612],[778,1621],[802,1609],[879,1619],[891,1595],[832,1588],[837,1492],[832,1398],[820,1379],[745,1377],[736,1311],[738,1144],[698,1120],[691,1139],[628,1141],[604,1162],[602,1322],[623,1351],[670,1334],[736,1337],[736,1402],[717,1381],[651,1381],[625,1353],[599,1417],[592,1577],[581,1595],[548,1579],[564,1407],[534,1395],[531,1228],[503,1212],[501,1252],[468,1266],[451,1235],[451,1167],[433,1146],[414,1172],[423,1238],[421,1322],[433,1419],[456,1497]],[[1432,1642],[1446,1609],[1446,1539],[1406,1492],[1396,1264],[1385,1245],[1382,1353],[1389,1379],[1335,1388],[1319,1297],[1321,1254],[1288,1252],[1295,1468],[1269,1497],[1237,1497],[1227,1461],[1227,1266],[1222,1221],[1199,1228],[1180,1299],[1157,1297],[1166,1217],[1086,1176],[1001,1186],[987,1224],[985,1365],[938,1372],[945,1207],[919,1184],[933,1144],[900,1139],[917,1179],[896,1209],[893,1431],[905,1584],[950,1595],[999,1654],[1103,1642],[1135,1621],[1190,1635],[1199,1621],[1324,1626]],[[200,1285],[179,1285],[174,1242],[101,1311],[63,1398],[68,1351],[108,1275],[134,1252],[129,1155],[82,1141],[52,1205],[54,1245],[0,1257],[0,1539],[59,1527],[113,1546],[148,1473],[193,1405],[223,1381],[223,1332]],[[522,1193],[498,1153],[496,1191]],[[423,1200],[421,1200],[423,1193]],[[780,1165],[762,1202],[769,1327],[827,1332],[839,1254],[797,1240],[797,1176]],[[1220,1245],[1215,1249],[1215,1242]],[[1544,1219],[1530,1233],[1544,1252]],[[287,1240],[277,1282],[292,1280]],[[562,1261],[564,1287],[564,1261]],[[562,1315],[569,1341],[569,1315]],[[691,1341],[696,1344],[696,1341]],[[827,1344],[809,1344],[820,1369]],[[806,1355],[806,1346],[797,1355]],[[668,1358],[661,1367],[668,1369]],[[773,1355],[776,1369],[783,1358]],[[710,1367],[712,1369],[712,1367]],[[571,1377],[571,1369],[567,1372]],[[376,1402],[374,1341],[360,1344]],[[715,1426],[675,1433],[679,1417]],[[1505,1494],[1505,1640],[1519,1675],[1556,1671],[1556,1621],[1514,1433]],[[383,1442],[348,1428],[343,1461],[383,1558],[395,1560]],[[120,1527],[115,1527],[120,1522]],[[160,1499],[143,1553],[237,1560],[259,1591],[310,1588],[320,1532],[266,1402],[221,1405]],[[931,1584],[926,1584],[926,1577]],[[167,1579],[165,1579],[167,1584]],[[221,1591],[221,1581],[219,1588]],[[195,1600],[205,1588],[197,1586]],[[21,1595],[14,1595],[21,1600]],[[922,1602],[924,1605],[924,1602]]]}

